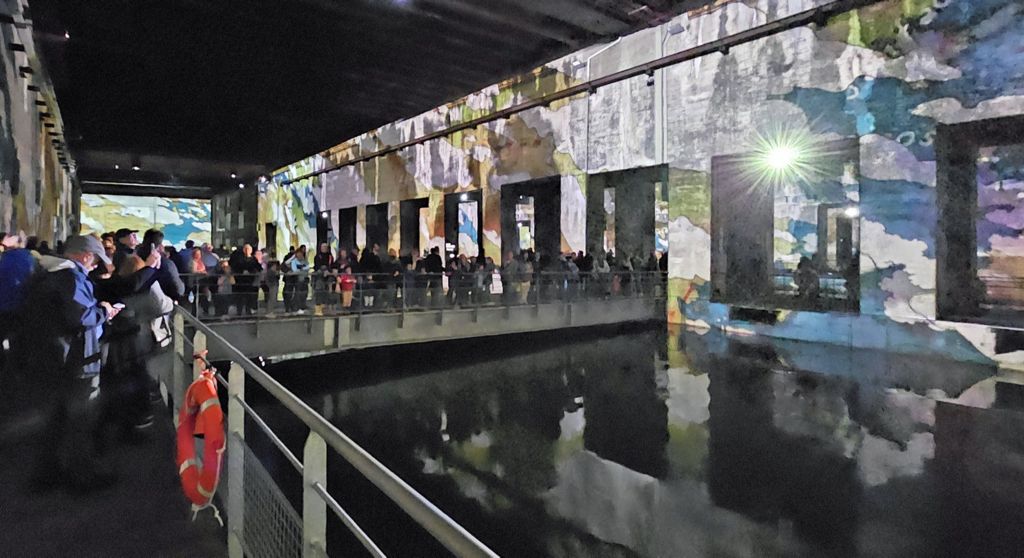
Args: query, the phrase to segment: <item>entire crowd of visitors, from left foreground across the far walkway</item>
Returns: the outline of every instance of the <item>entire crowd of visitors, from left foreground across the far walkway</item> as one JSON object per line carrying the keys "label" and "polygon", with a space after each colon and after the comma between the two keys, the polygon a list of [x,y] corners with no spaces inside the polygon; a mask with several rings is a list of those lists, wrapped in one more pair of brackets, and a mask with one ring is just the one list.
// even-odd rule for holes
{"label": "entire crowd of visitors, from left foreground across the far walkway", "polygon": [[664,254],[532,251],[501,262],[450,254],[445,264],[438,248],[399,257],[376,244],[358,253],[327,243],[279,260],[250,245],[228,251],[189,241],[178,250],[160,230],[138,232],[75,235],[52,249],[0,233],[0,415],[17,412],[18,401],[42,410],[39,487],[87,490],[115,480],[102,457],[146,437],[158,376],[170,369],[163,358],[171,356],[175,304],[214,316],[253,314],[260,304],[269,314],[306,312],[310,300],[316,313],[525,304],[653,293],[664,290],[667,266]]}

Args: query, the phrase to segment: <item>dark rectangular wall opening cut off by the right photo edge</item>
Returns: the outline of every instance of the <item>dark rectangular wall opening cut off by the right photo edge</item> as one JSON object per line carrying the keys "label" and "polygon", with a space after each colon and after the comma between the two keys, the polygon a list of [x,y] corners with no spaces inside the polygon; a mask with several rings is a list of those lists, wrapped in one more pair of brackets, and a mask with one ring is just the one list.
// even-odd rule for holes
{"label": "dark rectangular wall opening cut off by the right photo edge", "polygon": [[937,305],[944,319],[1024,319],[1024,117],[939,127]]}

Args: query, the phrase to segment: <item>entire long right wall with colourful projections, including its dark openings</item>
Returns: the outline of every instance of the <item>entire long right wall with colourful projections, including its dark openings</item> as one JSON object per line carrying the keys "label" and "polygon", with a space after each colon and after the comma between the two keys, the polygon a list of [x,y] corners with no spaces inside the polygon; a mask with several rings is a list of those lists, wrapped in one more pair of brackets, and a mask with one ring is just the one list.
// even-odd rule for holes
{"label": "entire long right wall with colourful projections, including its dark openings", "polygon": [[1024,367],[1024,0],[885,0],[769,30],[825,5],[715,2],[368,131],[276,171],[263,222],[312,244],[317,211],[358,232],[365,208],[415,200],[431,246],[668,251],[670,323]]}

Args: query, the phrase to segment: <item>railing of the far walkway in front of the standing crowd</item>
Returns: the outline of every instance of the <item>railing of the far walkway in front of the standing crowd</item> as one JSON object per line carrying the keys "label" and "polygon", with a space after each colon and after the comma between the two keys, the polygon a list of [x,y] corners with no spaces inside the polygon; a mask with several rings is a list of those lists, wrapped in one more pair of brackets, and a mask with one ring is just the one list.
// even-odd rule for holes
{"label": "railing of the far walkway in front of the standing crowd", "polygon": [[[342,285],[339,278],[345,278]],[[354,273],[182,275],[182,305],[204,320],[483,308],[612,298],[664,297],[667,273],[606,272]],[[343,290],[343,288],[345,290]],[[346,294],[348,293],[348,294]]]}

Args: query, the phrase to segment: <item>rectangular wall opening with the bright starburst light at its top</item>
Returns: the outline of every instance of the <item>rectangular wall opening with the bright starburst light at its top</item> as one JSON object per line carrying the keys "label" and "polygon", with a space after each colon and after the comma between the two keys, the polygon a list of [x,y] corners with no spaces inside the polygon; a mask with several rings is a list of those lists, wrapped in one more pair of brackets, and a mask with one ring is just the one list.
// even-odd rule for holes
{"label": "rectangular wall opening with the bright starburst light at its top", "polygon": [[713,300],[857,311],[857,140],[712,159]]}

